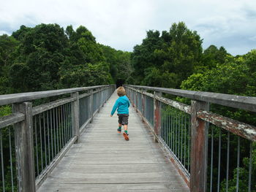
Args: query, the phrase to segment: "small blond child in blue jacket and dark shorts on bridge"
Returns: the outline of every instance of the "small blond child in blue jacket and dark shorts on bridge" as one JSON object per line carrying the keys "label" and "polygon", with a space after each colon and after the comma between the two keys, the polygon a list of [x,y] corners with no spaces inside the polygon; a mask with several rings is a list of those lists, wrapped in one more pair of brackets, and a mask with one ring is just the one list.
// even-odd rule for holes
{"label": "small blond child in blue jacket and dark shorts on bridge", "polygon": [[129,140],[128,133],[127,133],[127,126],[128,126],[128,118],[129,118],[129,99],[126,96],[124,87],[119,87],[117,89],[117,94],[119,96],[118,99],[116,99],[116,103],[113,106],[113,109],[111,111],[110,117],[114,115],[117,109],[117,115],[118,115],[118,129],[117,132],[121,133],[121,126],[124,126],[124,139],[127,141]]}

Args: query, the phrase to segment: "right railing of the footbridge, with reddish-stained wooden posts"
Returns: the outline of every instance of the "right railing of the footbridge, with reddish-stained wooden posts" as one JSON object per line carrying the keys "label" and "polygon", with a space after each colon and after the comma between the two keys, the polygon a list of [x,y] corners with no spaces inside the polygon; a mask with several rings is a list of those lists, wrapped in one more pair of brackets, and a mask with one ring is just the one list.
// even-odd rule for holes
{"label": "right railing of the footbridge, with reddish-stained wooden posts", "polygon": [[[256,127],[210,111],[210,104],[217,104],[251,112],[253,118],[255,97],[135,85],[125,88],[190,191],[256,190]],[[166,98],[176,96],[191,99],[191,105]]]}

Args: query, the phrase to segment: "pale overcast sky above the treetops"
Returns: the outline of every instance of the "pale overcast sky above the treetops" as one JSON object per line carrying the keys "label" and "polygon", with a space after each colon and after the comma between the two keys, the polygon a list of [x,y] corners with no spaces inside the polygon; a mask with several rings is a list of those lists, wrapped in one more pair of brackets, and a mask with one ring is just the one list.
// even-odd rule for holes
{"label": "pale overcast sky above the treetops", "polygon": [[0,35],[21,25],[86,26],[97,42],[132,51],[146,31],[167,31],[184,21],[203,48],[224,46],[241,55],[256,49],[255,0],[1,0]]}

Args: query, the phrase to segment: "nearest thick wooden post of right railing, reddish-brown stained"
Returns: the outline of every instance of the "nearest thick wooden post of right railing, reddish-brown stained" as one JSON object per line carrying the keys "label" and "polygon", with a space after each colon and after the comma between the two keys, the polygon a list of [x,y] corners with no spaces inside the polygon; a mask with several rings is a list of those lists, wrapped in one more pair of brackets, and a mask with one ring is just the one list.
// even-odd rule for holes
{"label": "nearest thick wooden post of right railing, reddish-brown stained", "polygon": [[197,118],[197,111],[208,111],[209,103],[205,101],[192,101],[191,110],[190,191],[206,192],[208,123]]}

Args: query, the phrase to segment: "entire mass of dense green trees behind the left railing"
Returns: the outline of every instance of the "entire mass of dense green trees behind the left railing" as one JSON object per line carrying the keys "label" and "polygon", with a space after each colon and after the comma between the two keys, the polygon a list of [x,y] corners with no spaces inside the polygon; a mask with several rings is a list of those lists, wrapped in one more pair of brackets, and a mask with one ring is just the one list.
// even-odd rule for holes
{"label": "entire mass of dense green trees behind the left railing", "polygon": [[0,36],[0,93],[125,82],[130,53],[100,45],[86,27],[20,26]]}

